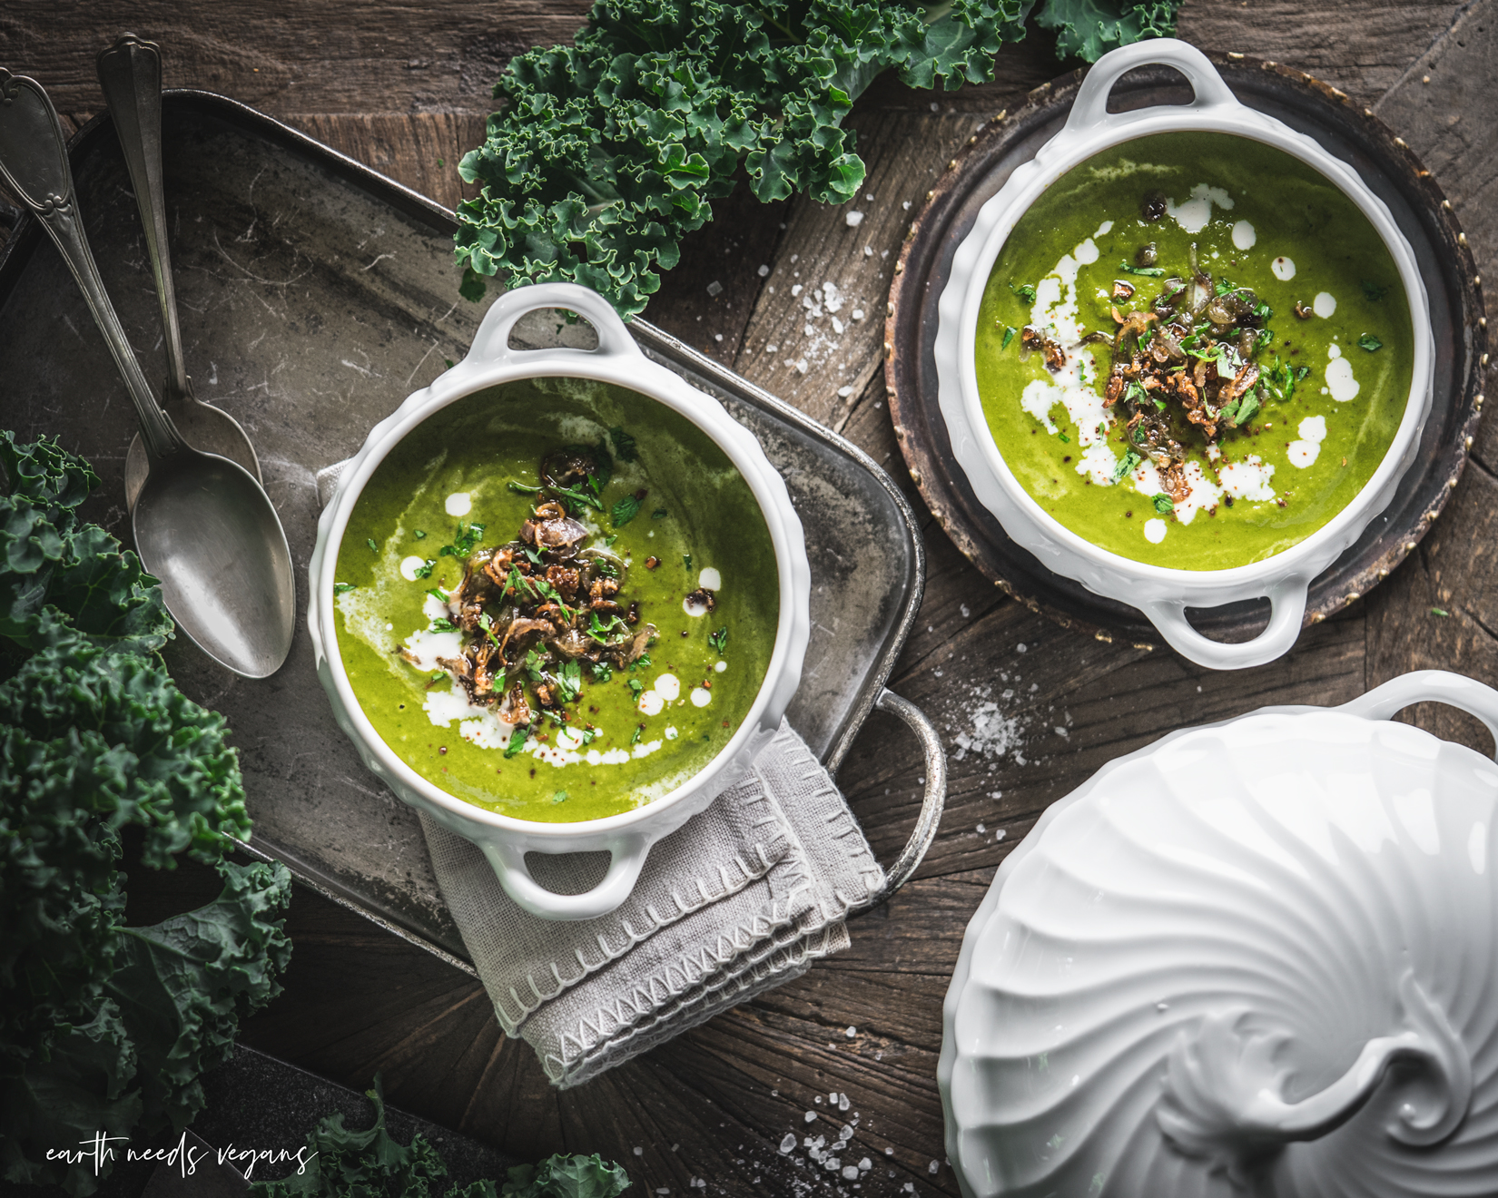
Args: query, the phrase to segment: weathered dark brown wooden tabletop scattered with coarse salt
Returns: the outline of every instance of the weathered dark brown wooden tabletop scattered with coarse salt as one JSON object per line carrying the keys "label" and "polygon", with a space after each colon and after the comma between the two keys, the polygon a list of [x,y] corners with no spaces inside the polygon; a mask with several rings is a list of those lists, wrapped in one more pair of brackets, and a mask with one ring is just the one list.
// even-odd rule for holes
{"label": "weathered dark brown wooden tabletop scattered with coarse salt", "polygon": [[[484,7],[322,0],[256,6],[7,0],[0,64],[42,79],[76,124],[100,97],[93,55],[120,31],[159,39],[166,84],[256,105],[446,205],[506,58],[571,36],[580,0]],[[1371,106],[1425,159],[1455,205],[1479,270],[1498,277],[1498,1],[1188,0],[1180,36],[1278,60]],[[897,246],[956,145],[978,121],[1062,73],[1043,34],[1004,51],[1001,81],[951,94],[878,82],[849,123],[869,165],[866,213],[803,201],[715,204],[649,319],[842,430],[903,479],[884,407],[881,337]],[[759,277],[759,267],[770,268]],[[719,289],[709,289],[710,283]],[[869,319],[818,352],[795,282],[833,282]],[[780,352],[765,352],[767,344]],[[804,370],[786,359],[806,358]],[[927,517],[930,578],[891,687],[948,738],[951,789],[915,881],[852,924],[852,948],[753,1003],[578,1090],[554,1093],[530,1051],[503,1039],[478,982],[316,896],[291,910],[283,994],[244,1039],[366,1086],[526,1158],[560,1149],[625,1162],[637,1194],[833,1194],[804,1137],[873,1170],[861,1194],[954,1194],[944,1162],[936,1056],[941,1002],[963,927],[995,867],[1040,812],[1110,758],[1188,723],[1267,702],[1341,702],[1390,675],[1450,668],[1498,683],[1498,431],[1489,421],[1446,514],[1417,554],[1293,654],[1239,674],[1165,650],[1104,645],[1002,598]],[[920,508],[920,500],[911,490]],[[1407,717],[1488,749],[1447,710]],[[887,743],[902,746],[887,752]],[[875,716],[840,782],[888,860],[915,815],[918,758]],[[142,879],[144,882],[144,879]],[[180,909],[208,885],[190,870],[132,894],[132,915]],[[833,1098],[833,1096],[837,1098]],[[846,1102],[840,1096],[846,1096]],[[792,1132],[797,1147],[782,1153]],[[846,1134],[846,1132],[845,1132]]]}

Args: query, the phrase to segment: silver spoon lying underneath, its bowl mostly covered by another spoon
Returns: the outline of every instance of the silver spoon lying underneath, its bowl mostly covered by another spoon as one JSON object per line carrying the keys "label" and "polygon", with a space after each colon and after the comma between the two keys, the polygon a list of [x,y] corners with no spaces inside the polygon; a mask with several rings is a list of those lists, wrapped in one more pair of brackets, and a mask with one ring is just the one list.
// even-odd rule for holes
{"label": "silver spoon lying underneath, its bowl mostly covered by another spoon", "polygon": [[[114,132],[124,150],[135,202],[145,226],[145,252],[156,276],[156,297],[162,302],[166,337],[166,388],[162,407],[177,431],[193,448],[240,463],[261,482],[261,463],[240,422],[228,412],[204,403],[193,394],[187,364],[183,361],[183,335],[177,323],[177,289],[172,285],[172,258],[166,243],[166,202],[162,190],[162,54],[154,42],[126,33],[99,54],[99,85],[103,88]],[[133,511],[145,485],[148,464],[139,434],[124,455],[124,502]]]}

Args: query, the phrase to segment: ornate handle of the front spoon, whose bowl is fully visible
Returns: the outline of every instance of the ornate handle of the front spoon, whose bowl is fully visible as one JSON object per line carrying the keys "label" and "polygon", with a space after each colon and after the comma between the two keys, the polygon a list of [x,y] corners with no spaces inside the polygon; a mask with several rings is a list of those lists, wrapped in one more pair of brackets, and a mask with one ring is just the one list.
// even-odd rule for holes
{"label": "ornate handle of the front spoon, whose bowl is fully visible", "polygon": [[183,439],[162,412],[151,385],[145,382],[88,249],[78,205],[73,202],[73,172],[67,165],[67,142],[57,109],[36,79],[12,75],[4,67],[0,67],[0,175],[57,243],[63,261],[82,288],[94,323],[109,344],[135,403],[147,452],[153,460],[177,452],[183,448]]}

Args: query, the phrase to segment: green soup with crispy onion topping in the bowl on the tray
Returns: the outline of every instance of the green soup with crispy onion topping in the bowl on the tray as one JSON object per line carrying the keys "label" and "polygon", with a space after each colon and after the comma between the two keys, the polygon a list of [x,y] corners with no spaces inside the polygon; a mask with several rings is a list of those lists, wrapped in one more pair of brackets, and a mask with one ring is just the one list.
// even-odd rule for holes
{"label": "green soup with crispy onion topping in the bowl on the tray", "polygon": [[418,774],[485,810],[599,819],[728,743],[779,621],[770,530],[697,425],[542,377],[433,413],[380,463],[337,566],[339,651]]}

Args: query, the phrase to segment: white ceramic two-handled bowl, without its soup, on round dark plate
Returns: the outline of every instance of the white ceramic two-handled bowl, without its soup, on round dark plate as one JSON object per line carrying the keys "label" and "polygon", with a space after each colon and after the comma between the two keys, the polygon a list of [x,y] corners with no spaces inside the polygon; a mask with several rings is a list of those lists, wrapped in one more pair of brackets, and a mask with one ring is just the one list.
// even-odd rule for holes
{"label": "white ceramic two-handled bowl, without its soup, on round dark plate", "polygon": [[[1179,70],[1195,91],[1189,105],[1109,112],[1113,84],[1128,70],[1164,64]],[[1362,491],[1305,541],[1263,562],[1221,571],[1150,566],[1110,553],[1079,536],[1044,511],[1014,478],[989,431],[978,395],[975,343],[978,307],[1005,238],[1041,193],[1067,171],[1121,142],[1153,133],[1218,132],[1264,142],[1317,169],[1368,217],[1384,241],[1410,301],[1414,370],[1404,418],[1383,461]],[[938,305],[938,403],[953,454],[974,494],[1004,532],[1050,571],[1088,590],[1138,608],[1161,636],[1185,657],[1213,669],[1242,669],[1282,656],[1300,635],[1306,590],[1393,499],[1395,488],[1420,443],[1431,410],[1435,356],[1425,283],[1414,253],[1389,208],[1339,159],[1287,124],[1237,102],[1206,55],[1185,42],[1159,39],[1116,49],[1088,72],[1065,127],[1017,168],[978,211],[956,250],[951,277]],[[1212,608],[1264,596],[1269,627],[1252,641],[1221,644],[1203,636],[1185,609]]]}

